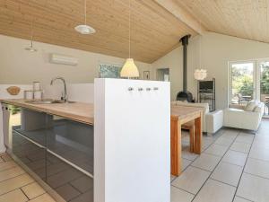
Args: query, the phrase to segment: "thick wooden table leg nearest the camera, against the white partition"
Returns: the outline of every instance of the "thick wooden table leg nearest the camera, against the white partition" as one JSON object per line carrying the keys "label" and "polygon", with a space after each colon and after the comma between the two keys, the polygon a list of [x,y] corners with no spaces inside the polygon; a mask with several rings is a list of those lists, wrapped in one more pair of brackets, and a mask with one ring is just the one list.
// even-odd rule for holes
{"label": "thick wooden table leg nearest the camera, against the white partition", "polygon": [[181,124],[179,120],[171,119],[170,152],[171,174],[178,176],[181,173]]}

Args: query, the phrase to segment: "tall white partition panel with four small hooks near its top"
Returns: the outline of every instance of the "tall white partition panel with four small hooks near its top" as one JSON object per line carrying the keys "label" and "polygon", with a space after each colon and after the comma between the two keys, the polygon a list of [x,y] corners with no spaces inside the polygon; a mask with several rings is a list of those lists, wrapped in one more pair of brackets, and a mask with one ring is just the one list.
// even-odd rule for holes
{"label": "tall white partition panel with four small hooks near its top", "polygon": [[169,202],[169,83],[95,80],[95,202]]}

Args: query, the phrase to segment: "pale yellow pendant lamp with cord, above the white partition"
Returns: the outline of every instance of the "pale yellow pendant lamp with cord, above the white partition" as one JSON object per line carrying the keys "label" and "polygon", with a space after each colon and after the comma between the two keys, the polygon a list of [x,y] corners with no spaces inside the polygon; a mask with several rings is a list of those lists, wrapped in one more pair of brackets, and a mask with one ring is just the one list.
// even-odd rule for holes
{"label": "pale yellow pendant lamp with cord, above the white partition", "polygon": [[137,78],[139,77],[139,71],[134,64],[134,59],[131,58],[131,0],[129,0],[129,58],[126,58],[126,63],[121,69],[121,77]]}

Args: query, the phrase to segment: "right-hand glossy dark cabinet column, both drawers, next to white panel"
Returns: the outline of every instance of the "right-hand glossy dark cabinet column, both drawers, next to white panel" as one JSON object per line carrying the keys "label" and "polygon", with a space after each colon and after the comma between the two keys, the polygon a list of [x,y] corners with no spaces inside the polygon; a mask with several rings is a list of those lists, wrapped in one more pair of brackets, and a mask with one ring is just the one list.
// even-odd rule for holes
{"label": "right-hand glossy dark cabinet column, both drawers, next to white panel", "polygon": [[48,115],[47,183],[66,201],[93,202],[93,127]]}

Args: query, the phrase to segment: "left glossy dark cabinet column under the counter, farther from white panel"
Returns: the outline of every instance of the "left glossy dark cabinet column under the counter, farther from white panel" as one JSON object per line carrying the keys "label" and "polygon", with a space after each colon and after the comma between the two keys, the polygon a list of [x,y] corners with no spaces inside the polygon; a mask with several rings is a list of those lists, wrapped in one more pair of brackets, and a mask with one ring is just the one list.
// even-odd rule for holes
{"label": "left glossy dark cabinet column under the counter, farther from white panel", "polygon": [[41,179],[46,179],[47,115],[33,110],[21,110],[21,124],[13,126],[13,154]]}

